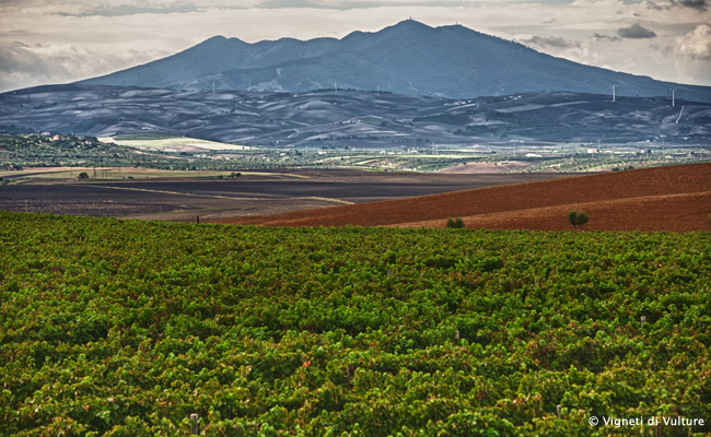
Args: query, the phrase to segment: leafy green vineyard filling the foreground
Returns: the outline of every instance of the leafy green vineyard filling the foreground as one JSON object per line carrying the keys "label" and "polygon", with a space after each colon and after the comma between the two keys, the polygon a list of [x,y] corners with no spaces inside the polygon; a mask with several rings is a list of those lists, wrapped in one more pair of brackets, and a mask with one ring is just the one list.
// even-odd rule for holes
{"label": "leafy green vineyard filling the foreground", "polygon": [[709,233],[0,218],[2,436],[711,433]]}

